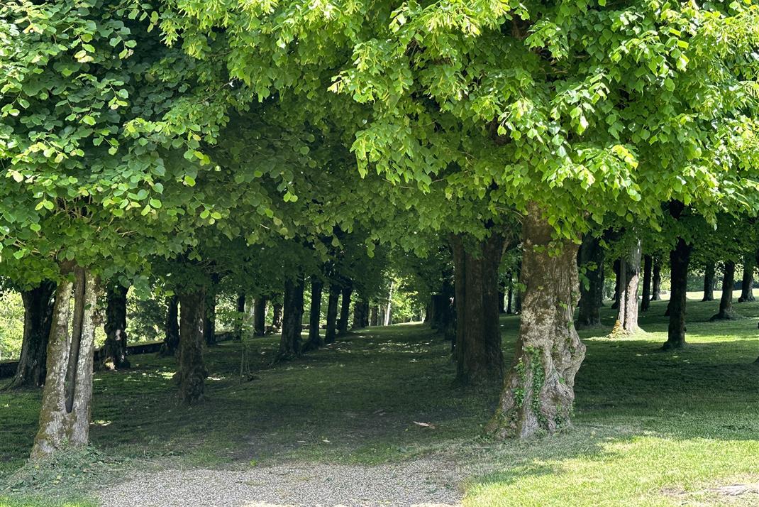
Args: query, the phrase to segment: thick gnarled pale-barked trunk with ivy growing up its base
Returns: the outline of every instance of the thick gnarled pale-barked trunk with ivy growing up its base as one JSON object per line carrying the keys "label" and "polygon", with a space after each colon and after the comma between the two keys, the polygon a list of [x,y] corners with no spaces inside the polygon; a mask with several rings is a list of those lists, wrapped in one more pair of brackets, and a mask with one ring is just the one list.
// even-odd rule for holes
{"label": "thick gnarled pale-barked trunk with ivy growing up its base", "polygon": [[[578,246],[552,241],[553,227],[534,204],[522,225],[525,287],[515,359],[489,429],[499,438],[555,433],[570,424],[575,374],[585,356],[574,325]],[[550,255],[559,246],[558,255]]]}

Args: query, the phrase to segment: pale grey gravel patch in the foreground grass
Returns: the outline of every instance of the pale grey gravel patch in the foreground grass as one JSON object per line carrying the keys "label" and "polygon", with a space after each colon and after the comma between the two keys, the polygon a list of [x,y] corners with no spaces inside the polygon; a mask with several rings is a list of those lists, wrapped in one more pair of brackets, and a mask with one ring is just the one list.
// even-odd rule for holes
{"label": "pale grey gravel patch in the foreground grass", "polygon": [[247,471],[165,470],[100,490],[108,507],[370,507],[461,505],[455,464],[280,464]]}

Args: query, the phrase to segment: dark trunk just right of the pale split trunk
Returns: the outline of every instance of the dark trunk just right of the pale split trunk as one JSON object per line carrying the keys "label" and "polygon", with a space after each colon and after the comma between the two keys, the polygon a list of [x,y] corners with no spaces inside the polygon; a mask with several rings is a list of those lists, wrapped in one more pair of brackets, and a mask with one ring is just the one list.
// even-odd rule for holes
{"label": "dark trunk just right of the pale split trunk", "polygon": [[100,361],[106,369],[129,368],[127,359],[127,294],[129,287],[118,281],[106,290],[106,343],[102,346]]}

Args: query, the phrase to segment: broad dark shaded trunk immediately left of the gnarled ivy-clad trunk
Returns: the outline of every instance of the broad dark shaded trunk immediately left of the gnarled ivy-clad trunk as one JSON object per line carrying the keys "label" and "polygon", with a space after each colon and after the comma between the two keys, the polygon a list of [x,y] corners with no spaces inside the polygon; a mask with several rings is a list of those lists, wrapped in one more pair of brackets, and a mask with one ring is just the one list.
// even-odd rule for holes
{"label": "broad dark shaded trunk immediately left of the gnarled ivy-clad trunk", "polygon": [[[503,376],[498,311],[498,267],[503,236],[465,248],[465,239],[452,240],[456,297],[456,380],[476,384]],[[476,249],[476,251],[474,251]]]}

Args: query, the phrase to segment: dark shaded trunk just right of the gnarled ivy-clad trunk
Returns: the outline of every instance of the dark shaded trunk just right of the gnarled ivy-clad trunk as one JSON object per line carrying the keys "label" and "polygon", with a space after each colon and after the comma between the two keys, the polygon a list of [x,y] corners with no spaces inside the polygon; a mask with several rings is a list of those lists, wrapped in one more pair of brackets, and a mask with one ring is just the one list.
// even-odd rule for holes
{"label": "dark shaded trunk just right of the gnarled ivy-clad trunk", "polygon": [[606,257],[600,238],[586,234],[578,251],[578,265],[585,270],[587,285],[580,283],[578,304],[578,329],[601,325],[601,301],[603,300],[603,259]]}

